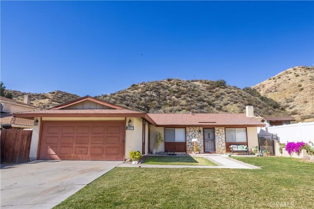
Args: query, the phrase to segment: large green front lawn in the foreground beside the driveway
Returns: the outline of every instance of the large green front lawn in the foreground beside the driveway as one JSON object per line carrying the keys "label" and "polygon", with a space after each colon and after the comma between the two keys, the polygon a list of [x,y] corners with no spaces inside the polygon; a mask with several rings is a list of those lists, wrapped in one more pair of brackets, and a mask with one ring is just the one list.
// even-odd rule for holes
{"label": "large green front lawn in the foreground beside the driveway", "polygon": [[234,158],[262,169],[117,167],[55,208],[313,208],[313,162]]}

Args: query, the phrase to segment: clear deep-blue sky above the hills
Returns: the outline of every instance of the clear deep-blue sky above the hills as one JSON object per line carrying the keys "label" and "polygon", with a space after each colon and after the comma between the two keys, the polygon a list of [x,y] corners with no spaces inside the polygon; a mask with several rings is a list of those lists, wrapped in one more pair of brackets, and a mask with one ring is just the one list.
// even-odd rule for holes
{"label": "clear deep-blue sky above the hills", "polygon": [[1,1],[7,89],[97,96],[133,83],[243,88],[314,64],[314,1]]}

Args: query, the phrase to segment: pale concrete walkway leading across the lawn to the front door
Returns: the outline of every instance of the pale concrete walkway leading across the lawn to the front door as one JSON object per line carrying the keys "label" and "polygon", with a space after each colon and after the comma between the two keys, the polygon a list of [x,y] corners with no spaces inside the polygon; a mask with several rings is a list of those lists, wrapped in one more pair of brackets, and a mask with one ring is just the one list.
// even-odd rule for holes
{"label": "pale concrete walkway leading across the lawn to the front door", "polygon": [[[233,169],[259,169],[260,167],[241,162],[226,155],[203,154],[191,157],[205,157],[218,166],[209,165],[151,165],[151,164],[129,164],[122,163],[117,167],[141,167],[141,168],[233,168]],[[239,157],[239,156],[237,156]]]}

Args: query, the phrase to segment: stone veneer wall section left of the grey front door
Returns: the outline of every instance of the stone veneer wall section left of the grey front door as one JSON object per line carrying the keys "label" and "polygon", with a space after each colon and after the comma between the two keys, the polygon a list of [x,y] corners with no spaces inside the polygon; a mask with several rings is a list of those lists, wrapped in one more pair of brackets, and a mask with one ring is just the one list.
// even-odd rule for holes
{"label": "stone veneer wall section left of the grey front door", "polygon": [[[202,133],[199,134],[198,130],[201,130]],[[204,153],[204,138],[203,138],[203,128],[199,127],[187,127],[186,128],[186,153],[194,152],[194,142],[193,138],[197,138],[196,146],[201,148],[201,153]]]}

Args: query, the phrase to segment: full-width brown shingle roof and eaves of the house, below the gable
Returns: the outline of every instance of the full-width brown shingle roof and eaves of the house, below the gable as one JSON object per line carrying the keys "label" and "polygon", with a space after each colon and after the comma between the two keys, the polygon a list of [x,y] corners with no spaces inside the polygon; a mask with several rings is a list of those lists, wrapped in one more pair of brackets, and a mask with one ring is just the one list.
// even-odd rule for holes
{"label": "full-width brown shingle roof and eaves of the house, below the gable", "polygon": [[156,126],[263,127],[264,123],[245,114],[146,114],[129,109],[48,109],[14,113],[16,117],[142,117]]}

